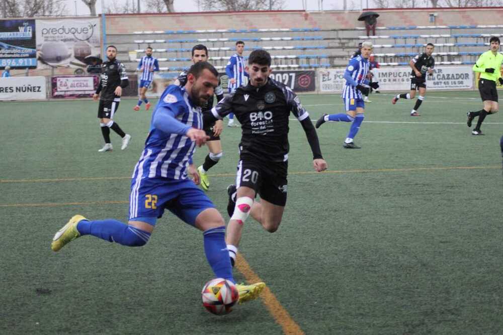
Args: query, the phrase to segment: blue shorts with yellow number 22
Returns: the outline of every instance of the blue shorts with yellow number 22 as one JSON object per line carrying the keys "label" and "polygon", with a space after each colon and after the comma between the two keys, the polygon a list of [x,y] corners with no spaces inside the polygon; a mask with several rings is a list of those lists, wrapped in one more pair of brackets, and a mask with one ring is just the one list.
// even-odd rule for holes
{"label": "blue shorts with yellow number 22", "polygon": [[156,218],[161,217],[166,208],[194,226],[197,215],[207,208],[215,208],[215,205],[190,179],[143,178],[131,181],[129,220],[155,226]]}

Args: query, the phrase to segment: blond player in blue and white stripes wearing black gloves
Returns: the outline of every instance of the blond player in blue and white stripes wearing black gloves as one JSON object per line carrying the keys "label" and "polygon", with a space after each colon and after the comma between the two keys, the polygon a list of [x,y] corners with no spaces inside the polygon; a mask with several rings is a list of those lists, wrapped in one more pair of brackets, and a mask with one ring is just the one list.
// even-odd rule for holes
{"label": "blond player in blue and white stripes wearing black gloves", "polygon": [[351,58],[344,72],[346,85],[344,86],[342,97],[346,113],[323,114],[316,122],[316,128],[319,128],[327,121],[351,122],[352,124],[348,137],[343,144],[343,147],[346,149],[360,149],[360,147],[355,144],[354,138],[360,130],[360,125],[365,118],[365,102],[363,101],[363,95],[368,93],[369,85],[374,89],[379,87],[377,82],[369,84],[369,81],[366,79],[367,73],[369,72],[369,57],[372,53],[372,48],[372,43],[363,42],[361,49],[362,54]]}

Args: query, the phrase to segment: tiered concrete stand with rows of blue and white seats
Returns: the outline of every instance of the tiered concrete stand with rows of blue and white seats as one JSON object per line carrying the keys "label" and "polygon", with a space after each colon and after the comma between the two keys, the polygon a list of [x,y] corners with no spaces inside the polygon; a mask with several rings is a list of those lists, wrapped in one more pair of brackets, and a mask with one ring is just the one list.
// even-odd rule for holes
{"label": "tiered concrete stand with rows of blue and white seats", "polygon": [[[136,67],[144,49],[151,46],[164,71],[187,66],[195,44],[205,44],[212,63],[223,69],[239,40],[246,44],[245,55],[258,48],[270,51],[278,68],[345,66],[363,40],[374,43],[381,66],[407,65],[429,42],[435,44],[437,63],[473,64],[490,36],[503,36],[498,32],[501,28],[503,25],[390,26],[377,27],[379,35],[370,38],[362,36],[362,27],[158,30],[109,35],[109,39],[121,45],[119,56],[128,68]],[[138,56],[128,58],[126,53],[131,51]]]}

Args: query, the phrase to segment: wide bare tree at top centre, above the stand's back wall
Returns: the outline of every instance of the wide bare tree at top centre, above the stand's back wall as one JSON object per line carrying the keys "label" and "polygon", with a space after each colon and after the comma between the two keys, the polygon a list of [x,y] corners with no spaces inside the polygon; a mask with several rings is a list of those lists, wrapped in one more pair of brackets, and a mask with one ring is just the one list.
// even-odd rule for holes
{"label": "wide bare tree at top centre, above the stand's back wall", "polygon": [[201,7],[205,11],[264,11],[281,10],[284,0],[202,0]]}

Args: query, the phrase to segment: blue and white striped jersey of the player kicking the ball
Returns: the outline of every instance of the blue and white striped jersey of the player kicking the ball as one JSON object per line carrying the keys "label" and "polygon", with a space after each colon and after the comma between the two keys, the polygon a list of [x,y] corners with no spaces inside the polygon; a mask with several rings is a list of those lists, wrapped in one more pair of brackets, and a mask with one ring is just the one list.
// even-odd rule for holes
{"label": "blue and white striped jersey of the player kicking the ball", "polygon": [[[152,120],[156,113],[169,114],[189,127],[203,128],[201,107],[194,106],[185,88],[178,85],[166,87],[152,113]],[[192,162],[195,150],[195,142],[187,136],[165,133],[156,129],[151,122],[145,149],[132,178],[138,182],[144,178],[187,179],[187,167]]]}

